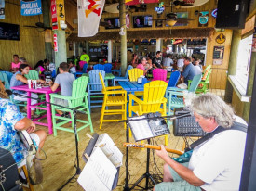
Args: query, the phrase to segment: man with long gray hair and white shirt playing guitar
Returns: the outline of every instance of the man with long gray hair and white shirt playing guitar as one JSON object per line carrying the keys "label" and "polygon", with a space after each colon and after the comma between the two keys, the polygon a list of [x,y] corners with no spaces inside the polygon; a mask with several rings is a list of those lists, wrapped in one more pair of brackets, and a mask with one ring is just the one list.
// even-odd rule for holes
{"label": "man with long gray hair and white shirt playing guitar", "polygon": [[[191,109],[195,121],[213,136],[195,146],[186,163],[168,157],[165,147],[161,146],[156,154],[166,162],[164,178],[154,190],[239,190],[246,133],[236,127],[247,128],[247,123],[235,116],[219,96],[212,94],[195,97]],[[224,129],[217,134],[220,126]]]}

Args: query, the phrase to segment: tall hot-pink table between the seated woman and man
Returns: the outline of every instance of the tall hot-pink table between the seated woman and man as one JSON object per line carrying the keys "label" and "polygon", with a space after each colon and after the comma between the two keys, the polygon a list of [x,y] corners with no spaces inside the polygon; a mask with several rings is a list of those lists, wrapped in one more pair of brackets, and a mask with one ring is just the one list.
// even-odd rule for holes
{"label": "tall hot-pink table between the seated woman and man", "polygon": [[[61,88],[58,88],[55,92],[53,92],[50,89],[50,87],[42,87],[42,88],[37,88],[37,89],[31,88],[30,89],[28,87],[28,85],[15,86],[15,87],[12,87],[11,89],[25,91],[25,92],[27,92],[27,96],[31,96],[31,93],[45,94],[47,102],[50,102],[49,94],[61,91]],[[39,105],[41,105],[43,103],[44,102],[40,102],[40,103],[31,105],[31,98],[27,98],[27,117],[31,118],[31,108],[38,108],[38,109],[46,110],[47,111],[46,115],[43,115],[40,118],[34,119],[33,121],[34,121],[35,124],[47,126],[48,127],[48,133],[52,134],[52,120],[51,120],[50,104],[47,104],[47,108],[38,107]],[[45,117],[47,117],[47,123],[36,121],[36,120],[40,120],[40,119],[45,118]]]}

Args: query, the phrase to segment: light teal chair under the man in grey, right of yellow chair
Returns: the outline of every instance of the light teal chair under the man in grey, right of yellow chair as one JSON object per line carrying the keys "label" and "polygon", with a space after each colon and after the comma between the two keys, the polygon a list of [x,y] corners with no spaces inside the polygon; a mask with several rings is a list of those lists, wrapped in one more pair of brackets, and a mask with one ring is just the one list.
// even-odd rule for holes
{"label": "light teal chair under the man in grey, right of yellow chair", "polygon": [[193,81],[188,90],[180,89],[178,87],[170,87],[168,90],[168,115],[173,115],[174,108],[182,108],[183,104],[183,91],[195,92],[198,84],[201,81],[201,74],[194,76]]}

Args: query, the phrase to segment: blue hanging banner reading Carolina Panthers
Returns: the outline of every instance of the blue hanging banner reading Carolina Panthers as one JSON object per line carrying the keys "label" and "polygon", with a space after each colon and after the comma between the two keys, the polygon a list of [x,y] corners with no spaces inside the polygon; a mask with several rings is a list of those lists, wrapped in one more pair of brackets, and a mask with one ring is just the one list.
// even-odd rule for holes
{"label": "blue hanging banner reading Carolina Panthers", "polygon": [[42,14],[41,0],[20,1],[21,15],[33,16]]}

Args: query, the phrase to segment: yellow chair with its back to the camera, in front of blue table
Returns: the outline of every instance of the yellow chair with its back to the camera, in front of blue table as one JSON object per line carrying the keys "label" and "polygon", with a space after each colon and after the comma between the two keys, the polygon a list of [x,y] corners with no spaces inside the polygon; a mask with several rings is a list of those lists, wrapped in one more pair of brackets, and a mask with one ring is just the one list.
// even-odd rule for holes
{"label": "yellow chair with its back to the camera, in front of blue table", "polygon": [[[160,112],[162,116],[167,113],[166,103],[167,98],[165,98],[165,92],[168,83],[164,81],[153,81],[146,83],[144,85],[143,99],[139,99],[137,96],[132,94],[129,95],[129,105],[128,112],[129,117],[132,117],[132,112],[143,115],[145,113],[155,113]],[[137,105],[132,105],[132,103],[137,103]],[[162,108],[161,108],[162,107]],[[165,135],[165,145],[168,145],[168,136]]]}

